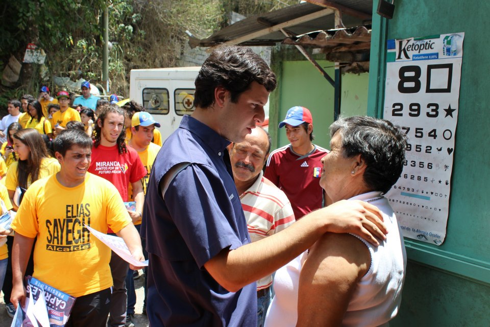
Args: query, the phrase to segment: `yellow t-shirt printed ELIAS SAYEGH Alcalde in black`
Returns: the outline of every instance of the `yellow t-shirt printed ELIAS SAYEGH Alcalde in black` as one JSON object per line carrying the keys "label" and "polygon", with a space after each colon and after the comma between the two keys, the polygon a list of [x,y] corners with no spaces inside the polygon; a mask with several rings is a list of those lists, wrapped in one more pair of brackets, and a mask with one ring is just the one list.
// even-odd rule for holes
{"label": "yellow t-shirt printed ELIAS SAYEGH Alcalde in black", "polygon": [[112,286],[111,250],[84,224],[117,232],[129,223],[115,186],[87,173],[74,188],[61,185],[56,175],[35,181],[24,194],[12,228],[22,236],[37,237],[33,276],[79,297]]}

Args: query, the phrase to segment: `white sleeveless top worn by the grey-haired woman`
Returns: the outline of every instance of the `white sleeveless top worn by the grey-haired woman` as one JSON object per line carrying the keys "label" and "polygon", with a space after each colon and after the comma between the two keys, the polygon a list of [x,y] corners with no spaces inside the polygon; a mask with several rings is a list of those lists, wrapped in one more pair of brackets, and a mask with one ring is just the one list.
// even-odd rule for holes
{"label": "white sleeveless top worn by the grey-haired woman", "polygon": [[[401,229],[388,200],[379,192],[361,194],[350,200],[369,201],[377,206],[389,232],[386,241],[378,247],[363,241],[371,253],[371,267],[357,284],[342,326],[387,326],[398,313],[405,279],[407,256]],[[307,252],[304,252],[277,271],[276,296],[267,311],[265,327],[296,326],[299,279],[306,258]]]}

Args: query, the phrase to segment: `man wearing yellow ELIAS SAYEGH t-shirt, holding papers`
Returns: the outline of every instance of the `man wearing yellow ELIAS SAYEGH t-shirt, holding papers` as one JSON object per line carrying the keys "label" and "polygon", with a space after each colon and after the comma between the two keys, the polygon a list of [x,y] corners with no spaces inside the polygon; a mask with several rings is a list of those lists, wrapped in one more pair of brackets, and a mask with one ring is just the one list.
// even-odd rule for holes
{"label": "man wearing yellow ELIAS SAYEGH t-shirt, holding papers", "polygon": [[77,297],[67,324],[103,327],[111,299],[111,250],[96,241],[85,225],[102,232],[112,228],[137,261],[144,259],[141,241],[114,185],[87,173],[91,138],[68,129],[55,139],[54,149],[61,170],[30,186],[12,223],[11,300],[14,306],[24,303],[23,269],[37,238],[33,276]]}

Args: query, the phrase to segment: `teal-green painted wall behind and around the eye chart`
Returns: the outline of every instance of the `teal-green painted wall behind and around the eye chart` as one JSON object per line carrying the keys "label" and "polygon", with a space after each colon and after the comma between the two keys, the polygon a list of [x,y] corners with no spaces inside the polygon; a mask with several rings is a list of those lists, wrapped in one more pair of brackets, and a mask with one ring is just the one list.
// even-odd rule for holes
{"label": "teal-green painted wall behind and around the eye chart", "polygon": [[[377,7],[374,2],[374,10]],[[405,240],[410,260],[401,311],[390,326],[490,326],[490,2],[398,0],[393,19],[373,14],[369,114],[384,99],[386,39],[464,32],[456,150],[442,246]]]}

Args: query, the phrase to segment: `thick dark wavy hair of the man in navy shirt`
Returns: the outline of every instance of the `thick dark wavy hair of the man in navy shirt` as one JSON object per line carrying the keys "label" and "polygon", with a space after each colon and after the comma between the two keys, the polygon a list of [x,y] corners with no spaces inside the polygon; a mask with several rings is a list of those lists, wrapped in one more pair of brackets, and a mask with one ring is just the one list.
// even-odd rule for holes
{"label": "thick dark wavy hair of the man in navy shirt", "polygon": [[267,63],[250,48],[244,46],[219,46],[203,63],[195,79],[194,106],[208,108],[214,103],[214,90],[222,86],[231,92],[236,103],[239,95],[255,81],[272,92],[276,75]]}

